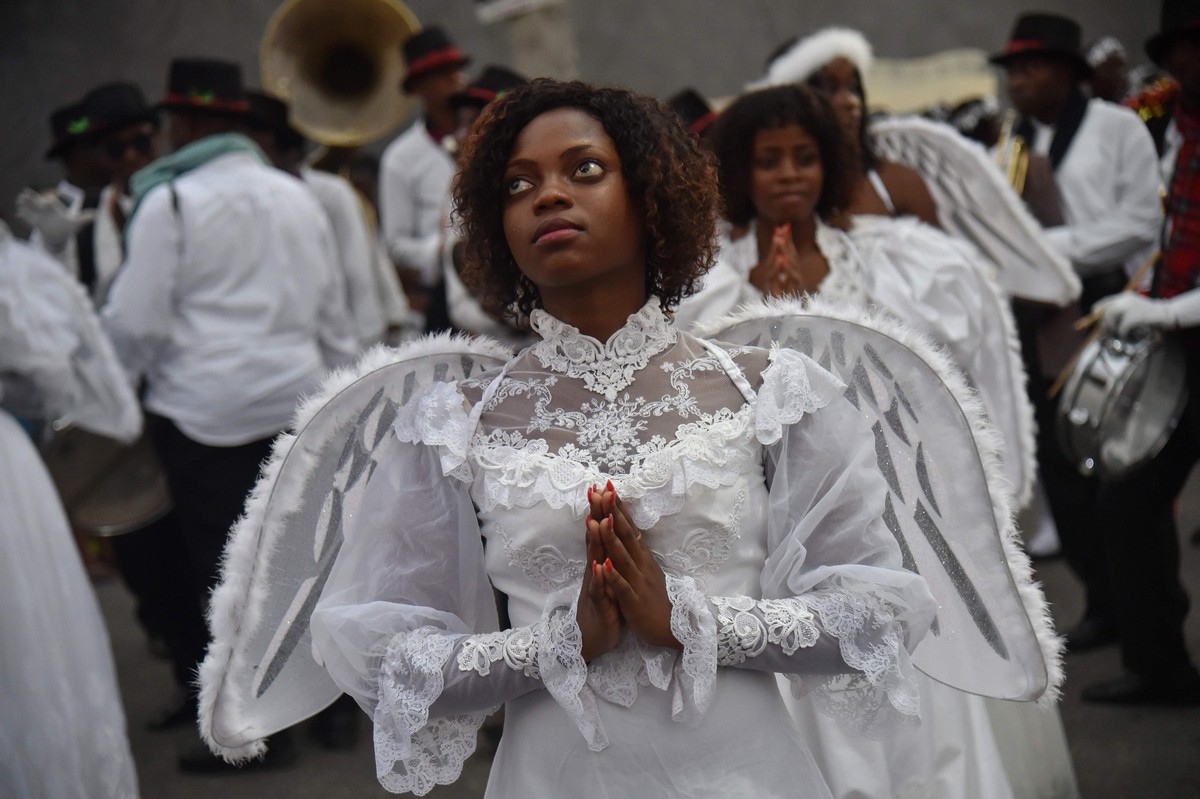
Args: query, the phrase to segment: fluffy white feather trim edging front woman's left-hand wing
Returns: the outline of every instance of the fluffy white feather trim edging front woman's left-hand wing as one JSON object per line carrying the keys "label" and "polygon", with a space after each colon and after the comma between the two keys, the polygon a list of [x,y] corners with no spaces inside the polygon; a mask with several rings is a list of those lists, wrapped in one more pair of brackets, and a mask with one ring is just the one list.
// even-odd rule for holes
{"label": "fluffy white feather trim edging front woman's left-hand wing", "polygon": [[[222,555],[221,583],[214,589],[209,603],[211,639],[199,668],[199,728],[200,737],[215,755],[230,763],[240,763],[266,751],[263,739],[238,746],[218,743],[214,738],[212,721],[218,698],[233,703],[230,710],[235,716],[242,715],[241,697],[234,691],[222,692],[223,678],[245,666],[245,655],[239,651],[238,642],[244,631],[254,630],[262,620],[266,587],[262,581],[256,583],[254,572],[268,566],[274,549],[260,547],[277,546],[282,537],[282,530],[278,529],[282,524],[281,516],[276,516],[275,525],[268,529],[269,509],[293,506],[298,500],[296,492],[302,491],[305,485],[304,475],[316,465],[311,457],[306,457],[304,462],[289,462],[288,473],[292,479],[281,480],[284,462],[288,461],[299,433],[318,413],[336,403],[343,391],[368,374],[400,361],[448,353],[493,358],[502,362],[512,358],[511,349],[490,338],[451,334],[426,336],[401,347],[377,344],[355,364],[331,371],[311,396],[298,403],[292,423],[294,432],[281,433],[272,443],[271,456],[263,464],[258,481],[246,498],[245,512],[229,531]],[[352,404],[337,409],[337,413],[338,416],[349,419],[360,410]]]}

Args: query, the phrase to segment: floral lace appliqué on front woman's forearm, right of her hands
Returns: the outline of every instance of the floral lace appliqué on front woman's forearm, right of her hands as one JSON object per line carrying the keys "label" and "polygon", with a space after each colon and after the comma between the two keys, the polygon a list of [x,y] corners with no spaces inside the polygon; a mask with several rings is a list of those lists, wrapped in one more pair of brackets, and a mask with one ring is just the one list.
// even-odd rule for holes
{"label": "floral lace appliqu\u00e9 on front woman's forearm, right of her hands", "polygon": [[716,607],[716,663],[737,666],[774,644],[785,655],[812,647],[821,635],[804,600],[752,600],[749,596],[714,596]]}

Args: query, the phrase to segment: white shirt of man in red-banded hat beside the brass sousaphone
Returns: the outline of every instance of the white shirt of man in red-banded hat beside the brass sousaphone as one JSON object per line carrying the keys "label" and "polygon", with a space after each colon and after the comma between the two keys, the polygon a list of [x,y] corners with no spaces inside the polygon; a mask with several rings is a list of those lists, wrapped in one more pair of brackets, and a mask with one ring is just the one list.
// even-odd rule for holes
{"label": "white shirt of man in red-banded hat beside the brass sousaphone", "polygon": [[388,253],[416,270],[421,282],[442,280],[442,224],[455,163],[419,119],[384,150],[379,168],[379,216]]}

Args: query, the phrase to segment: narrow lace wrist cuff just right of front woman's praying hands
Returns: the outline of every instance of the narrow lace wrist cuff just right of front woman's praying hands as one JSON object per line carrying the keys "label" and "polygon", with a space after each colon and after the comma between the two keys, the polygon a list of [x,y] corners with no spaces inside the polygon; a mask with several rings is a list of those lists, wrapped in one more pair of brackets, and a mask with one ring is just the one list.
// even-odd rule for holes
{"label": "narrow lace wrist cuff just right of front woman's praying hands", "polygon": [[[686,708],[702,714],[713,699],[716,681],[716,621],[700,584],[691,577],[665,575],[671,600],[671,632],[683,644],[676,665],[671,715],[683,720]],[[690,699],[690,702],[688,702]]]}

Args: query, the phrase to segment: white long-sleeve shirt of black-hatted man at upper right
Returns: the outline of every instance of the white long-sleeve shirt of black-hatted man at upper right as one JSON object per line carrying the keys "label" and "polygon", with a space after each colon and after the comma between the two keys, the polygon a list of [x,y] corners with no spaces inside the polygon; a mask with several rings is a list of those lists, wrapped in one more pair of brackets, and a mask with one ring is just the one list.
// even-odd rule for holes
{"label": "white long-sleeve shirt of black-hatted man at upper right", "polygon": [[[1054,128],[1034,121],[1033,152],[1046,155]],[[1050,244],[1081,276],[1112,266],[1135,272],[1154,252],[1163,204],[1154,140],[1135,113],[1091,100],[1055,170],[1066,224]]]}

